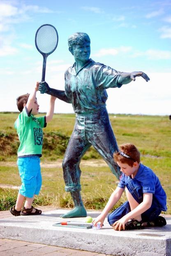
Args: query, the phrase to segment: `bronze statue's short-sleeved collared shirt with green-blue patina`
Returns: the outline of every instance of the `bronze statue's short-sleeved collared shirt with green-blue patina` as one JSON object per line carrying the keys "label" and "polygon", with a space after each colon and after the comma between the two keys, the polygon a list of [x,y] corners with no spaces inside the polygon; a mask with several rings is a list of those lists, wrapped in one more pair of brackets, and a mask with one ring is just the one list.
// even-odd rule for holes
{"label": "bronze statue's short-sleeved collared shirt with green-blue patina", "polygon": [[89,59],[78,71],[76,63],[65,72],[65,94],[71,101],[75,113],[94,113],[106,106],[106,89],[121,87],[120,76],[109,66]]}

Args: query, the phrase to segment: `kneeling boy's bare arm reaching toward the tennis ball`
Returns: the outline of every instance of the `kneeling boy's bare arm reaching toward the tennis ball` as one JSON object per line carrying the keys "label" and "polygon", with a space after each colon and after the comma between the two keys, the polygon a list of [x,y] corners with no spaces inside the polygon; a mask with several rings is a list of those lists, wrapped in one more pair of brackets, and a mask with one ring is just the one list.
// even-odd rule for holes
{"label": "kneeling boy's bare arm reaching toward the tennis ball", "polygon": [[112,209],[112,207],[118,202],[118,200],[120,200],[120,197],[121,197],[123,191],[124,191],[124,188],[117,187],[116,190],[111,194],[109,201],[107,202],[106,206],[104,207],[104,210],[102,211],[102,213],[97,218],[95,218],[94,221],[92,221],[92,223],[95,226],[97,226],[97,223],[100,222],[100,226],[102,228],[102,225],[104,223],[104,219],[106,218],[106,215]]}

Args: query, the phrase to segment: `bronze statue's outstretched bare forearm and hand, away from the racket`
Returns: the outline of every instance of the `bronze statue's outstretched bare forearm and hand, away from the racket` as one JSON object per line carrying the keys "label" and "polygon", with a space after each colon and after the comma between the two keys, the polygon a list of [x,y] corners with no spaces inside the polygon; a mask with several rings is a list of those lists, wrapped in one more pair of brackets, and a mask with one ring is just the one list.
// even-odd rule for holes
{"label": "bronze statue's outstretched bare forearm and hand, away from the racket", "polygon": [[118,78],[118,83],[120,83],[122,85],[128,84],[131,81],[135,81],[135,78],[137,76],[141,76],[142,78],[144,78],[146,80],[146,82],[148,82],[148,80],[150,80],[148,75],[146,75],[145,73],[140,72],[140,71],[138,71],[138,72],[134,71],[131,73],[122,72],[122,73],[120,73],[120,77]]}

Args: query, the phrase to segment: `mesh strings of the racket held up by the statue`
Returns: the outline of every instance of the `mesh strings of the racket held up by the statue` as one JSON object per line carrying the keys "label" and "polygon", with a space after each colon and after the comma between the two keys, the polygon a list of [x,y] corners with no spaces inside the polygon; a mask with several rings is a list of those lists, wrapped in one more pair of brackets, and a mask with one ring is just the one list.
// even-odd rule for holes
{"label": "mesh strings of the racket held up by the statue", "polygon": [[58,43],[58,35],[52,26],[42,26],[36,37],[37,47],[45,54],[49,54]]}

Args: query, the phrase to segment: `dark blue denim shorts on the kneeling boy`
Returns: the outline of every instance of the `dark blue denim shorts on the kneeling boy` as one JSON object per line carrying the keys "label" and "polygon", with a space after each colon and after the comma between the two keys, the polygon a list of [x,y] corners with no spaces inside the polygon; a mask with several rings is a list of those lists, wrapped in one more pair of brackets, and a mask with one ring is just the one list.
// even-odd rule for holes
{"label": "dark blue denim shorts on the kneeling boy", "polygon": [[[141,202],[143,202],[143,191],[142,191],[141,184],[134,179],[129,179],[125,184],[125,186],[127,187],[127,190],[129,191],[129,193],[131,193],[132,197],[134,197],[136,202],[141,204]],[[115,211],[109,214],[108,216],[109,224],[112,225],[115,221],[120,220],[120,218],[128,214],[130,211],[131,211],[131,208],[129,206],[129,202],[126,201],[124,204],[118,207]],[[152,201],[151,207],[141,214],[141,218],[144,222],[154,221],[155,218],[157,218],[161,214],[161,211],[162,211],[161,206],[159,205],[158,201],[155,199],[153,195],[153,201]]]}

